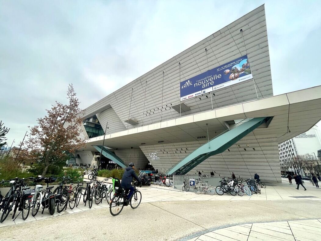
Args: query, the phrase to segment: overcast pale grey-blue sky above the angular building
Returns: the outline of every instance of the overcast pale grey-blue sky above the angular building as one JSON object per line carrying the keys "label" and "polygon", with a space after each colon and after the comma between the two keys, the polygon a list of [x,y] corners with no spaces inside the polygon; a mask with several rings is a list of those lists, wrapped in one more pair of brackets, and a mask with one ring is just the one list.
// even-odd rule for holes
{"label": "overcast pale grey-blue sky above the angular building", "polygon": [[[0,0],[0,120],[16,146],[69,83],[85,108],[264,1]],[[321,85],[320,1],[265,1],[274,95]]]}

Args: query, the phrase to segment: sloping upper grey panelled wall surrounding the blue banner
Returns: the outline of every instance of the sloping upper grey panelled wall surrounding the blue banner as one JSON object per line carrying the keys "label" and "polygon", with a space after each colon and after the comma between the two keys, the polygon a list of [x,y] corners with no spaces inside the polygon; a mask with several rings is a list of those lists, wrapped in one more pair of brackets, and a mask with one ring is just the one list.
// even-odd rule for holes
{"label": "sloping upper grey panelled wall surrounding the blue banner", "polygon": [[[184,100],[189,111],[179,113],[171,108],[180,103],[180,82],[246,54],[254,80]],[[106,113],[112,106],[120,119],[117,128],[124,129],[120,122],[126,127],[124,121],[128,117],[138,121],[139,126],[147,125],[272,95],[265,9],[262,5],[87,107],[84,117],[100,113],[97,117],[105,128]],[[129,129],[133,127],[136,126],[129,125]],[[108,133],[112,132],[110,128]]]}

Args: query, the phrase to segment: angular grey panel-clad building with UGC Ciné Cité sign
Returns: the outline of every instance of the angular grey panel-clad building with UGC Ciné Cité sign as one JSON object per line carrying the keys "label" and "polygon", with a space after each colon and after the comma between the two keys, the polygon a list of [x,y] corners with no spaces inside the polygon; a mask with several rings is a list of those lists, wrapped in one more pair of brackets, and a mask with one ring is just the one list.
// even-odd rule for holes
{"label": "angular grey panel-clad building with UGC Cin\u00e9 Cit\u00e9 sign", "polygon": [[[230,76],[234,82],[221,84],[217,78],[223,74],[213,75],[210,81],[220,85],[180,94],[196,86],[195,76],[232,67],[246,55],[247,64],[237,62],[241,68]],[[106,132],[103,155],[121,166],[132,161],[144,168],[150,162],[169,174],[258,173],[280,182],[278,144],[315,125],[320,104],[320,86],[273,96],[262,5],[87,107],[83,118],[97,117]],[[82,137],[88,138],[85,129]],[[77,162],[90,164],[103,138],[89,138]]]}

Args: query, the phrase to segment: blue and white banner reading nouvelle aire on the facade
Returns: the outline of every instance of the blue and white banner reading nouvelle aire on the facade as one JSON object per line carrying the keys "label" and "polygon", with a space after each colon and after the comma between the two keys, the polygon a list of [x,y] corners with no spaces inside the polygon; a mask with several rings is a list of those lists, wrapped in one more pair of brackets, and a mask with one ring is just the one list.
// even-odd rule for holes
{"label": "blue and white banner reading nouvelle aire on the facade", "polygon": [[247,55],[180,83],[181,101],[253,79]]}

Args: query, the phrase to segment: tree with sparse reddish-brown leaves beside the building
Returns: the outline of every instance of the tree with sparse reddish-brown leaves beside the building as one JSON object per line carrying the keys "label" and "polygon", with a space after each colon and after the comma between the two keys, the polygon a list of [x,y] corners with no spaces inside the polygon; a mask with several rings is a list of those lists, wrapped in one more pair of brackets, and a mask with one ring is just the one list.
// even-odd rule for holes
{"label": "tree with sparse reddish-brown leaves beside the building", "polygon": [[35,160],[41,166],[43,176],[49,167],[68,160],[86,143],[85,139],[79,138],[82,111],[79,109],[79,101],[73,85],[68,87],[67,99],[68,104],[56,101],[50,110],[46,110],[45,117],[37,119],[38,125],[29,127],[30,136],[24,144],[22,154],[25,155],[26,151],[28,152],[28,159]]}

